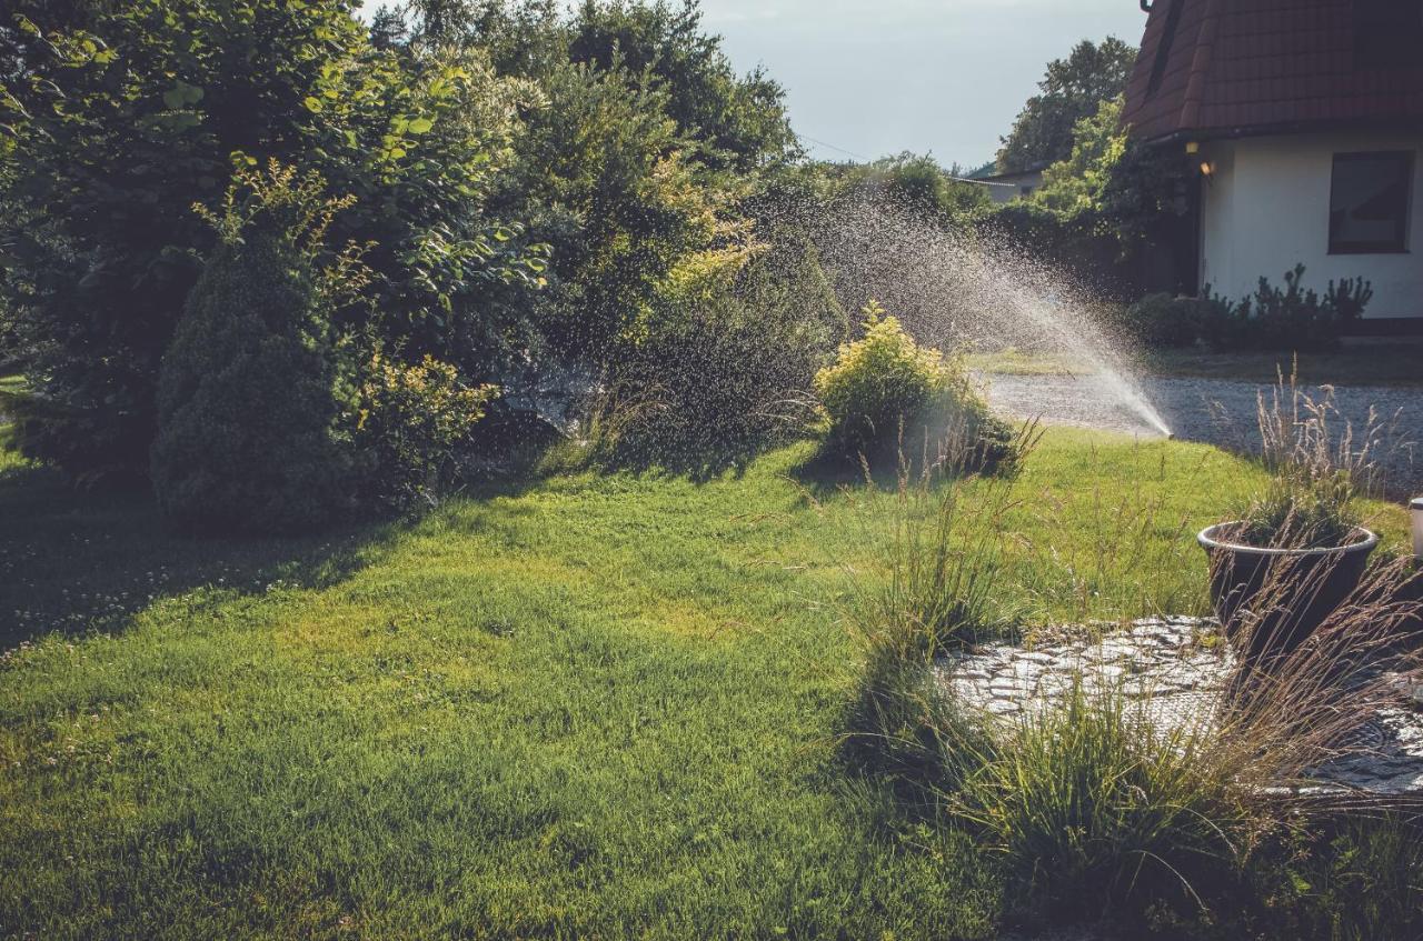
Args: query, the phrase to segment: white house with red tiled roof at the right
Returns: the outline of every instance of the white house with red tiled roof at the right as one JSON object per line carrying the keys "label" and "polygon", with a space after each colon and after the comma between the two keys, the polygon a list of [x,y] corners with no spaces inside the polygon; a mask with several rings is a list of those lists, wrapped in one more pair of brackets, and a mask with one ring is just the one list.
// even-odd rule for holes
{"label": "white house with red tiled roof at the right", "polygon": [[1423,331],[1423,0],[1140,0],[1130,134],[1192,168],[1198,286],[1368,279]]}

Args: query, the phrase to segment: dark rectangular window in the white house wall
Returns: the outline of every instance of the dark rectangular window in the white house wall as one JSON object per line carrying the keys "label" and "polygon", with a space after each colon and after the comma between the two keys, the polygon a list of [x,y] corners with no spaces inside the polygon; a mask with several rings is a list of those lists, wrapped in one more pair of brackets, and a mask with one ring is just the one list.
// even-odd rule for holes
{"label": "dark rectangular window in the white house wall", "polygon": [[1413,155],[1335,154],[1329,253],[1407,252]]}

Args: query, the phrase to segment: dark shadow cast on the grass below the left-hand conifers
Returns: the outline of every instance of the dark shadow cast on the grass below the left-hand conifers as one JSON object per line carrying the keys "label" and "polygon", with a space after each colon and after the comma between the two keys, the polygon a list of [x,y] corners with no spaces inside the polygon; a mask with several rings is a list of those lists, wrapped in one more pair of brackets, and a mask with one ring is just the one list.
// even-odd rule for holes
{"label": "dark shadow cast on the grass below the left-hand conifers", "polygon": [[57,470],[0,470],[0,650],[58,631],[124,630],[152,601],[202,586],[324,587],[371,561],[401,522],[310,537],[192,537],[144,490],[81,490]]}

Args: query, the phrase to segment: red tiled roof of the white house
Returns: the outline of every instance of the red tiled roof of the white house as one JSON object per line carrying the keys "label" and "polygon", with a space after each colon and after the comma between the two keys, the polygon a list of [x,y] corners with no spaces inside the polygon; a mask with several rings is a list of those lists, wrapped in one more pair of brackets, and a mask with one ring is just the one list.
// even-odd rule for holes
{"label": "red tiled roof of the white house", "polygon": [[[1174,36],[1171,7],[1175,11]],[[1373,13],[1360,13],[1372,4]],[[1383,4],[1383,13],[1377,13]],[[1368,17],[1405,23],[1377,30]],[[1417,36],[1407,33],[1416,28]],[[1161,57],[1167,45],[1165,57]],[[1124,119],[1144,139],[1345,122],[1423,128],[1420,0],[1155,0]]]}

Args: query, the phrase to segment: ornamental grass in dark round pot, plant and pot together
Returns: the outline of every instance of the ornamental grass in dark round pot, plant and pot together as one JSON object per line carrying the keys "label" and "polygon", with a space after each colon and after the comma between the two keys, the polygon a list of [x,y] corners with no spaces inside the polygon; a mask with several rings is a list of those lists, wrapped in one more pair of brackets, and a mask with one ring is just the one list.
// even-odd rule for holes
{"label": "ornamental grass in dark round pot, plant and pot together", "polygon": [[1355,439],[1346,431],[1335,443],[1332,411],[1328,391],[1316,404],[1294,381],[1281,381],[1269,407],[1261,397],[1271,483],[1237,519],[1198,536],[1211,563],[1215,614],[1247,670],[1268,670],[1319,630],[1359,587],[1379,544],[1356,499],[1373,468],[1372,435]]}

